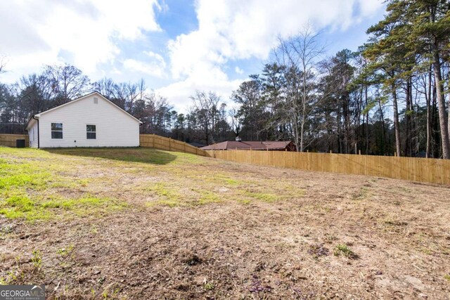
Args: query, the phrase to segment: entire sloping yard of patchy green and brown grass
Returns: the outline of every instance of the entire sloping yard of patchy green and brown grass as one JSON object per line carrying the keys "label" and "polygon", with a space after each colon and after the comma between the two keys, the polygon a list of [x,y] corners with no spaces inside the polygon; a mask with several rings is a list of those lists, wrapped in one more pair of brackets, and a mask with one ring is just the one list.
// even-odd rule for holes
{"label": "entire sloping yard of patchy green and brown grass", "polygon": [[0,148],[0,283],[49,299],[445,299],[449,200],[150,148]]}

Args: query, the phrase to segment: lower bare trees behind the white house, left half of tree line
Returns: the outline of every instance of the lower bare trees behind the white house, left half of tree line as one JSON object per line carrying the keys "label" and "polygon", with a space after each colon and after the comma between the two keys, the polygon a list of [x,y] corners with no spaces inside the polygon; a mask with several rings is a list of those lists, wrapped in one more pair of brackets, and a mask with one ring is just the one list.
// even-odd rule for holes
{"label": "lower bare trees behind the white house, left half of tree line", "polygon": [[92,91],[141,119],[141,133],[205,145],[233,138],[226,104],[217,93],[197,91],[189,112],[182,114],[143,80],[117,83],[104,78],[92,82],[72,65],[47,65],[41,73],[24,76],[15,84],[0,83],[0,133],[24,133],[32,115]]}

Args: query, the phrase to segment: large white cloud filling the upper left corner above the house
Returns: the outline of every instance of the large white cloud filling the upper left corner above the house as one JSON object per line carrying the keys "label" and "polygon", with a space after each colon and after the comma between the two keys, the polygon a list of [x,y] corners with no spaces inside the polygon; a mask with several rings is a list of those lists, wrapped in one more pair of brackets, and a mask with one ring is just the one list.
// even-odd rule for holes
{"label": "large white cloud filling the upper left corner above the house", "polygon": [[34,72],[61,56],[88,74],[120,53],[117,41],[159,31],[157,0],[0,1],[0,53],[10,77]]}

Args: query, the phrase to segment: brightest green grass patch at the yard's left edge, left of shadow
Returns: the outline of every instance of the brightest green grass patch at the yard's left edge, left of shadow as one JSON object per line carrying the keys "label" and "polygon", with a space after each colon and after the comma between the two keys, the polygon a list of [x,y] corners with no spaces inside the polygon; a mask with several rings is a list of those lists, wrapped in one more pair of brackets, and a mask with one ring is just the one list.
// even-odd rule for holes
{"label": "brightest green grass patch at the yard's left edge, left of shadow", "polygon": [[[0,148],[0,214],[35,221],[100,216],[128,206],[114,197],[81,192],[91,181],[74,177],[74,169],[91,168],[91,162],[58,156],[46,150]],[[78,196],[60,195],[62,188]]]}

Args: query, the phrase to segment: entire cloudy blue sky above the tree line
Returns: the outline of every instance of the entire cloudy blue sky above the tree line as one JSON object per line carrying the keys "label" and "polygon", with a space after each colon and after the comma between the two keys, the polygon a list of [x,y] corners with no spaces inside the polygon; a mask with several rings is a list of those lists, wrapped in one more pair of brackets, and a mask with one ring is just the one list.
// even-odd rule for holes
{"label": "entire cloudy blue sky above the tree line", "polygon": [[383,0],[0,1],[0,81],[69,63],[94,81],[143,78],[184,110],[195,89],[228,99],[277,36],[309,23],[328,55],[356,50],[383,13]]}

